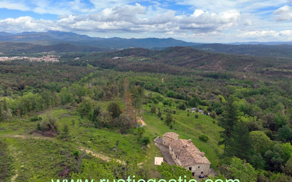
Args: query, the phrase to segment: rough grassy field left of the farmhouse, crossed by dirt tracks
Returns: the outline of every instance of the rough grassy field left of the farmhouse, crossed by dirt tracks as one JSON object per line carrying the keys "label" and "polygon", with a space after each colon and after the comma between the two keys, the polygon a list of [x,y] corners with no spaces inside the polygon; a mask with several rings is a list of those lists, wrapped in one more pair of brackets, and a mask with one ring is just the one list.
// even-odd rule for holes
{"label": "rough grassy field left of the farmhouse, crossed by dirt tracks", "polygon": [[[118,102],[123,106],[122,102]],[[108,103],[98,104],[106,108]],[[59,129],[62,129],[65,123],[69,125],[68,140],[34,134],[32,130],[36,129],[37,122],[31,122],[29,118],[0,123],[0,140],[7,144],[6,152],[12,156],[12,181],[45,181],[58,177],[66,166],[70,166],[68,159],[72,157],[74,150],[86,149],[91,151],[93,156],[97,154],[106,159],[122,159],[123,156],[135,155],[149,174],[155,167],[154,156],[161,156],[153,143],[149,147],[141,148],[134,127],[128,134],[123,135],[117,128],[96,129],[88,119],[81,118],[76,111],[62,108],[50,109],[39,113],[38,116],[44,120],[48,115],[58,119]]]}

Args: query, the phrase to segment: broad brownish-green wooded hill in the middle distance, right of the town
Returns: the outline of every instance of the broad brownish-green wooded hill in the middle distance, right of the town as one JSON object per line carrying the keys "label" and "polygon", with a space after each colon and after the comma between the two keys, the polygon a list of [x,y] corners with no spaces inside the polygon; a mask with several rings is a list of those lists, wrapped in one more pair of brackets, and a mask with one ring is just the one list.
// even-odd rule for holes
{"label": "broad brownish-green wooded hill in the middle distance, right of the town", "polygon": [[[113,57],[122,59],[112,59]],[[164,50],[132,48],[120,51],[93,53],[81,60],[101,68],[116,68],[120,71],[176,71],[176,74],[190,72],[191,69],[204,71],[242,71],[267,75],[281,74],[291,77],[291,58],[277,58],[232,55],[226,53],[206,52],[191,47],[169,47]],[[72,62],[71,64],[78,62]],[[135,65],[135,66],[134,66]],[[162,66],[163,65],[163,66]],[[157,69],[156,69],[157,68]],[[159,68],[159,69],[158,69]],[[179,69],[177,69],[179,68]],[[182,71],[183,70],[183,71]]]}

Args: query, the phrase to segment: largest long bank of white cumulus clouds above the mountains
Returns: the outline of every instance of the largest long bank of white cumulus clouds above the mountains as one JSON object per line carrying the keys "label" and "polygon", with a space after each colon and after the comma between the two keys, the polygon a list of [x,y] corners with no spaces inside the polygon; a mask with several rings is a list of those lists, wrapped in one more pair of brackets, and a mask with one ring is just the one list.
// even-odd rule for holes
{"label": "largest long bank of white cumulus clouds above the mountains", "polygon": [[[240,19],[238,10],[228,10],[219,14],[195,10],[190,16],[176,15],[168,10],[160,13],[147,12],[138,3],[114,8],[105,8],[89,15],[62,15],[60,20],[36,20],[32,17],[8,18],[0,20],[2,30],[17,31],[94,31],[94,32],[187,32],[222,31],[233,26]],[[25,26],[23,26],[25,25]],[[9,28],[8,28],[9,27]]]}

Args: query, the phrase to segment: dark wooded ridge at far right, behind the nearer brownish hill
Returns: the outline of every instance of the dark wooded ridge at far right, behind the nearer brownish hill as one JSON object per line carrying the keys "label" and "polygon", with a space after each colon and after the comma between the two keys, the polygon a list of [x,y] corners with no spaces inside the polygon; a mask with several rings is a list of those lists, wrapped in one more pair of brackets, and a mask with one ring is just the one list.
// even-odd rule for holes
{"label": "dark wooded ridge at far right, behind the nearer brownish hill", "polygon": [[192,47],[204,51],[244,54],[250,56],[292,57],[292,45],[289,44],[201,44]]}

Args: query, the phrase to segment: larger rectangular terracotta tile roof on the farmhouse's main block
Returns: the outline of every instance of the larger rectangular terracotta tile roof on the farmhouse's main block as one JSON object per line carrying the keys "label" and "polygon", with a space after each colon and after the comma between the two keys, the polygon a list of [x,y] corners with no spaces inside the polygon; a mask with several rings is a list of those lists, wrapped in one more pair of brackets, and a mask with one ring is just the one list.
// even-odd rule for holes
{"label": "larger rectangular terracotta tile roof on the farmhouse's main block", "polygon": [[197,149],[191,140],[178,139],[169,142],[169,145],[184,167],[197,163],[211,164],[205,154]]}

